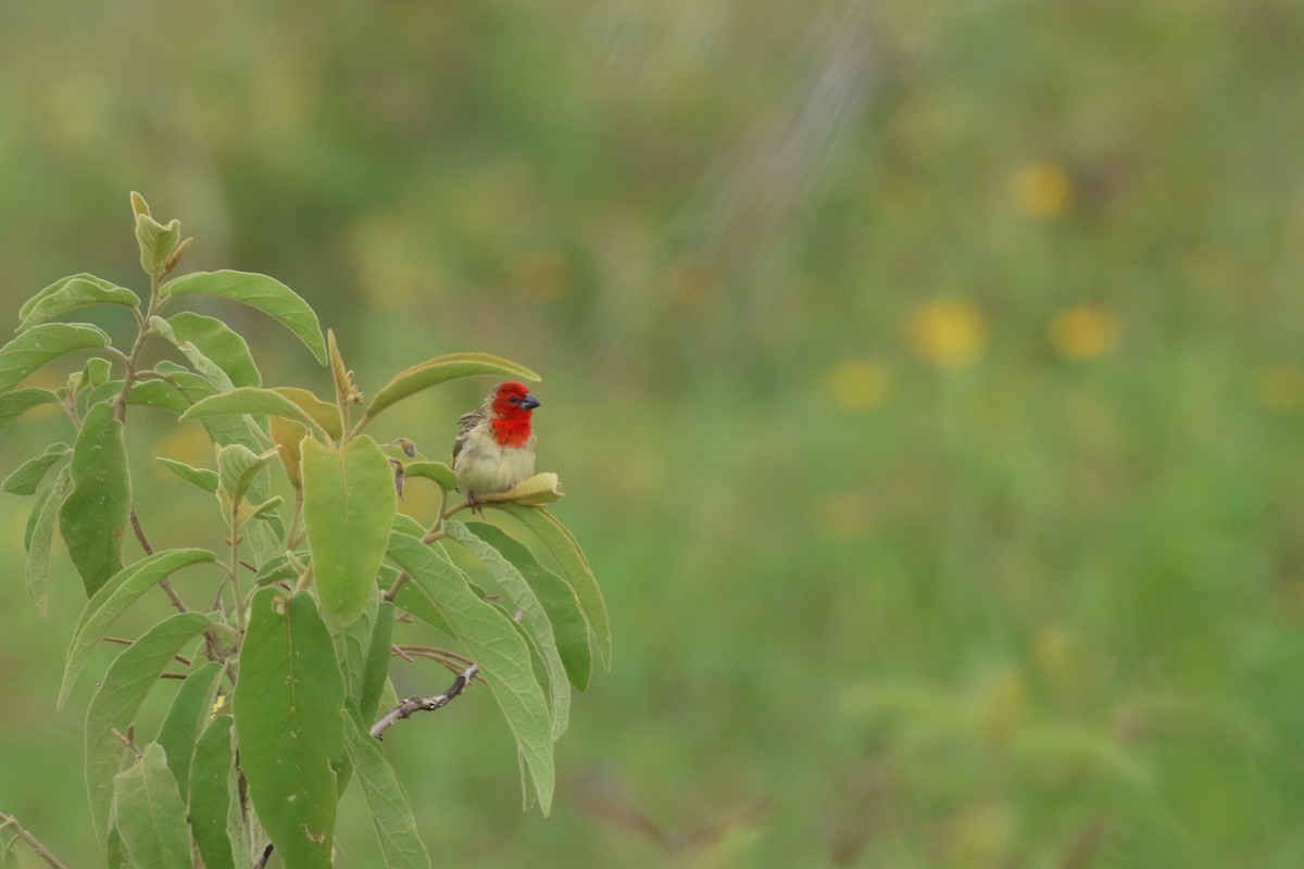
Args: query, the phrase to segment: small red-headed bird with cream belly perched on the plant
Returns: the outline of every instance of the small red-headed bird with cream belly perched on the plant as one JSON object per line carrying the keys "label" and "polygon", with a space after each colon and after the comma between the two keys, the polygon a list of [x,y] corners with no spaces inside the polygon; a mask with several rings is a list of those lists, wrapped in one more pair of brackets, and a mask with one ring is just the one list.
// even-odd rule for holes
{"label": "small red-headed bird with cream belly perched on the plant", "polygon": [[484,404],[458,420],[452,470],[458,491],[476,511],[479,495],[503,492],[535,476],[535,433],[529,417],[539,399],[522,383],[499,383]]}

